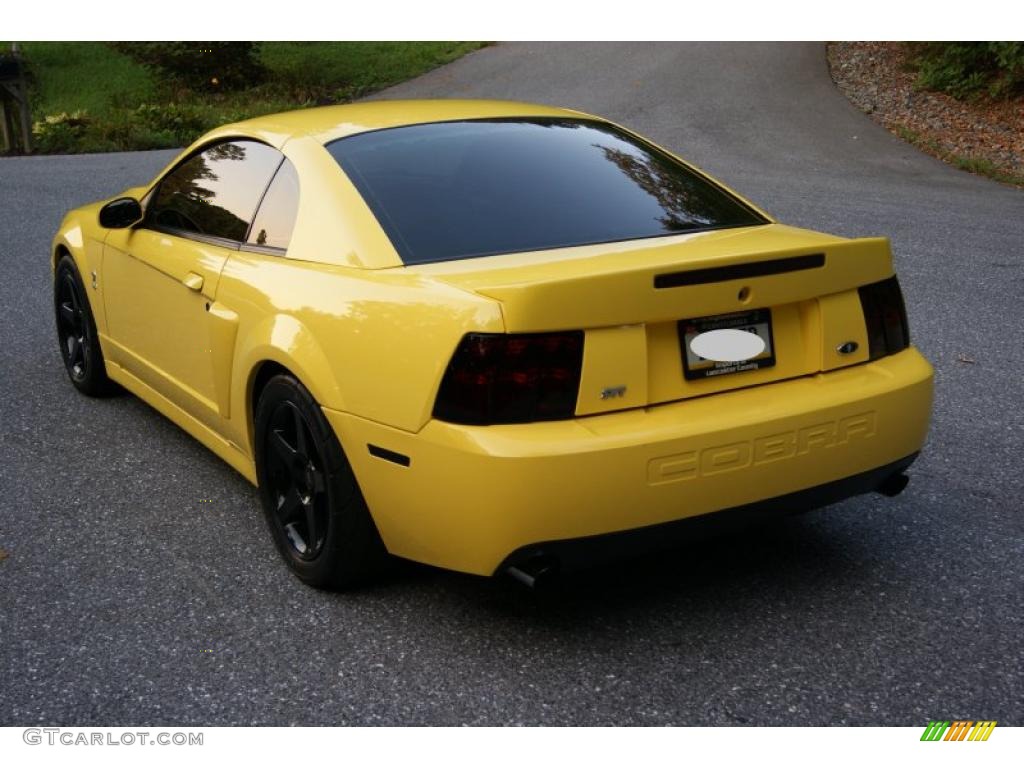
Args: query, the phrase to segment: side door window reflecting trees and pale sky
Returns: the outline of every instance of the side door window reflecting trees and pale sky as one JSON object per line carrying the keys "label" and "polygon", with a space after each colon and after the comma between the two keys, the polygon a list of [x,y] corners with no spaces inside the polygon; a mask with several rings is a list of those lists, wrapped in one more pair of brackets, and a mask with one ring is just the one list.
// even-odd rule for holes
{"label": "side door window reflecting trees and pale sky", "polygon": [[160,182],[146,220],[159,228],[245,241],[260,196],[282,155],[258,141],[224,141]]}

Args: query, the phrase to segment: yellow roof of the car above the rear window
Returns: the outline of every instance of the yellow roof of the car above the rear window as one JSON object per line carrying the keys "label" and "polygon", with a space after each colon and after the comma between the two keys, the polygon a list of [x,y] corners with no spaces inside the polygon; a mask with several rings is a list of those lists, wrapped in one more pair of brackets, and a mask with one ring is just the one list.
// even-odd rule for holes
{"label": "yellow roof of the car above the rear window", "polygon": [[232,123],[224,128],[260,136],[268,140],[269,143],[278,145],[282,143],[282,139],[298,136],[311,136],[326,144],[334,139],[355,133],[395,128],[402,125],[514,117],[589,118],[591,116],[574,110],[563,110],[523,101],[380,99],[265,115]]}

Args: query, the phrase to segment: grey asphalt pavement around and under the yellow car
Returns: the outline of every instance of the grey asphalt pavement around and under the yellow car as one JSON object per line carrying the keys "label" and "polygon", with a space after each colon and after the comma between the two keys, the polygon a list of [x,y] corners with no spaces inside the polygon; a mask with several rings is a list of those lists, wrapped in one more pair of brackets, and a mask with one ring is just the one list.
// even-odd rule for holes
{"label": "grey asphalt pavement around and under the yellow car", "polygon": [[50,238],[173,153],[0,160],[0,725],[1024,725],[1024,191],[874,125],[820,44],[503,44],[384,96],[594,112],[786,223],[892,238],[936,367],[909,487],[539,596],[412,565],[313,591],[245,480],[61,368]]}

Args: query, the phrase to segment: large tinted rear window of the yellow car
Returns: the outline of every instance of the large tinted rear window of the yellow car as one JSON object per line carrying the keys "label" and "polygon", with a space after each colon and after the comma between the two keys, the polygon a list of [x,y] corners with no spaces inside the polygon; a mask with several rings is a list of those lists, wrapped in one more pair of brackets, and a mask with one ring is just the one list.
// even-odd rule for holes
{"label": "large tinted rear window of the yellow car", "polygon": [[655,147],[591,120],[427,123],[327,148],[407,264],[767,223]]}

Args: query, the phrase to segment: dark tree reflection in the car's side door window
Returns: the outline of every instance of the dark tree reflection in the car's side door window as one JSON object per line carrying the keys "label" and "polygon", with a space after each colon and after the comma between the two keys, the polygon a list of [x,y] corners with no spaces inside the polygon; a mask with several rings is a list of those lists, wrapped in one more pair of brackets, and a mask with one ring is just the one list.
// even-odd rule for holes
{"label": "dark tree reflection in the car's side door window", "polygon": [[245,240],[249,222],[217,205],[216,189],[203,185],[204,181],[220,180],[212,165],[245,159],[245,146],[226,142],[186,161],[160,184],[154,216],[157,223],[200,234]]}

